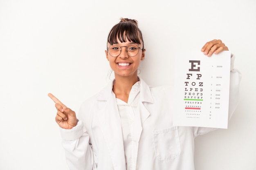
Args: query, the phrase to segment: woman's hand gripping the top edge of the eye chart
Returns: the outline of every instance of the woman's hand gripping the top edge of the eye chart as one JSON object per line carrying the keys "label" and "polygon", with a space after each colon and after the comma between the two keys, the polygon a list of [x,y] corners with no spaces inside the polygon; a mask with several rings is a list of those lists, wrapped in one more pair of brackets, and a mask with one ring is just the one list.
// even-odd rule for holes
{"label": "woman's hand gripping the top edge of the eye chart", "polygon": [[228,51],[229,49],[221,40],[211,40],[207,42],[203,48],[201,49],[202,52],[204,52],[204,55],[207,55],[208,57],[211,57],[211,55],[218,54],[221,51]]}

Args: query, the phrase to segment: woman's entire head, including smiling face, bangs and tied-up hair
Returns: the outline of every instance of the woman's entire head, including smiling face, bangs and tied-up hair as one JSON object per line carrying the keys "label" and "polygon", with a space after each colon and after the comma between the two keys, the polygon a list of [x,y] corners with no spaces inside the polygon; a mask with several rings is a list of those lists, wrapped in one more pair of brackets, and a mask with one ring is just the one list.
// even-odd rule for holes
{"label": "woman's entire head, including smiling face, bangs and tied-up hair", "polygon": [[[129,56],[126,47],[136,44],[139,47],[137,53],[136,46],[129,47]],[[121,53],[119,54],[118,45],[121,47]],[[109,47],[111,46],[111,55],[109,53]],[[112,48],[113,47],[113,48]],[[109,61],[110,67],[115,72],[115,78],[121,76],[122,78],[128,77],[131,79],[137,79],[137,70],[139,64],[145,57],[144,41],[142,38],[142,33],[138,27],[136,20],[131,20],[128,18],[122,18],[121,21],[112,27],[108,35],[106,57]],[[136,52],[135,52],[136,51]],[[135,55],[137,53],[137,55]],[[119,55],[118,55],[119,54]],[[116,57],[117,56],[117,57]]]}

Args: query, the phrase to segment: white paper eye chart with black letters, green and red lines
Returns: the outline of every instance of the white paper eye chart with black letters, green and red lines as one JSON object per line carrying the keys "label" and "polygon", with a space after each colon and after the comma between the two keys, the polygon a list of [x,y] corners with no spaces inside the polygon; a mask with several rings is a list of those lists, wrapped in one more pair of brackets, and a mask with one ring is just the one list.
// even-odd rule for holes
{"label": "white paper eye chart with black letters, green and red lines", "polygon": [[230,56],[229,51],[177,55],[174,126],[227,128]]}

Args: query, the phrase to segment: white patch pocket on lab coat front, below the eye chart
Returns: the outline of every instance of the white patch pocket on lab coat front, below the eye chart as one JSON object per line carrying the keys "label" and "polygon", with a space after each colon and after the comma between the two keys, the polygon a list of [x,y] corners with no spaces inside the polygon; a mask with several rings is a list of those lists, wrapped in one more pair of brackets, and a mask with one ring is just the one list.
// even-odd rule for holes
{"label": "white patch pocket on lab coat front, below the eye chart", "polygon": [[158,160],[174,159],[180,155],[180,138],[177,126],[154,130],[153,134],[155,152]]}

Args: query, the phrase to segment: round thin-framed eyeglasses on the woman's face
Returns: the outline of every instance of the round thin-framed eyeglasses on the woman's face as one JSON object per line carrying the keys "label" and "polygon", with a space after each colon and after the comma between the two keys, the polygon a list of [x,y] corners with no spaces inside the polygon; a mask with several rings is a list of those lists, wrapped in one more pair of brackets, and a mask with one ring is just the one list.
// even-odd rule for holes
{"label": "round thin-framed eyeglasses on the woman's face", "polygon": [[117,57],[121,54],[121,47],[126,47],[126,52],[130,57],[137,55],[139,53],[139,49],[141,49],[136,44],[130,44],[128,46],[111,45],[107,48],[107,50],[112,57]]}

